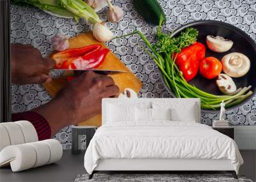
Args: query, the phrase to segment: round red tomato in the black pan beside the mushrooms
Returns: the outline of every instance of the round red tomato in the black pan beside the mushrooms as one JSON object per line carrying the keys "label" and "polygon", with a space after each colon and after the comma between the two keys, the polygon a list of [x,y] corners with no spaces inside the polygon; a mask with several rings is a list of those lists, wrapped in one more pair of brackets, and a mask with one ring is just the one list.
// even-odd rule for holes
{"label": "round red tomato in the black pan beside the mushrooms", "polygon": [[205,57],[205,59],[200,62],[199,70],[200,74],[206,79],[214,79],[220,75],[222,64],[215,57]]}

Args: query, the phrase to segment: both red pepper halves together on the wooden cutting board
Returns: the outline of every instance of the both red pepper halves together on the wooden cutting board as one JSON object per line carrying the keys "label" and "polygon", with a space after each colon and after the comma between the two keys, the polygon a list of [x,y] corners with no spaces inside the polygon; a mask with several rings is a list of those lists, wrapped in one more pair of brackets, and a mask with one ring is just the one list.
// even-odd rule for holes
{"label": "both red pepper halves together on the wooden cutting board", "polygon": [[67,49],[52,55],[56,68],[86,70],[98,68],[105,60],[109,49],[100,49],[101,45],[89,45],[77,49]]}

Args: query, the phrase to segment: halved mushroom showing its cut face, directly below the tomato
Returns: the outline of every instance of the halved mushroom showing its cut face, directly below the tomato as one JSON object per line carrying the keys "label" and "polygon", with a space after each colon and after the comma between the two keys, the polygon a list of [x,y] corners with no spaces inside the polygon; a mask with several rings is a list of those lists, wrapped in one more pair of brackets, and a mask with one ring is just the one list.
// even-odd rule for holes
{"label": "halved mushroom showing its cut face, directly below the tomato", "polygon": [[221,73],[216,80],[216,84],[221,93],[231,94],[236,91],[236,84],[228,75]]}

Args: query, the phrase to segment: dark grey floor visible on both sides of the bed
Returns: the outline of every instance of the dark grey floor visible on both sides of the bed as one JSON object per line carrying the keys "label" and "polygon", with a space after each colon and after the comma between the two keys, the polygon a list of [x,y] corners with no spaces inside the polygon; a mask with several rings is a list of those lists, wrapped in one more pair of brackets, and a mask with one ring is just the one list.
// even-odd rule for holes
{"label": "dark grey floor visible on both sides of the bed", "polygon": [[[256,181],[256,150],[242,150],[244,164],[239,174]],[[71,155],[71,151],[64,150],[63,157],[57,163],[36,167],[22,172],[12,172],[10,167],[0,169],[0,181],[74,181],[78,174],[85,174],[83,165],[84,153]],[[203,171],[201,171],[204,173]],[[215,172],[215,171],[214,171]],[[212,172],[212,173],[214,173]],[[200,173],[200,172],[196,172]],[[211,173],[211,172],[206,172]]]}

